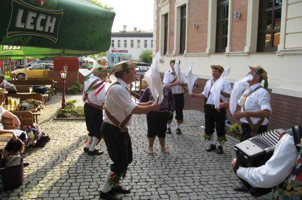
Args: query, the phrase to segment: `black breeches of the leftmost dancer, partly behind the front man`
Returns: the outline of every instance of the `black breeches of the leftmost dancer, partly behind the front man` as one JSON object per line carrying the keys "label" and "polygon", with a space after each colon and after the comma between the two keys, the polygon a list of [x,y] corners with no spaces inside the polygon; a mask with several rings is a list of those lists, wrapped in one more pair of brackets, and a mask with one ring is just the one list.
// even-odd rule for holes
{"label": "black breeches of the leftmost dancer, partly behind the front man", "polygon": [[89,136],[102,138],[101,125],[103,122],[103,110],[92,107],[90,104],[84,104],[84,115],[86,121],[86,127],[89,132]]}

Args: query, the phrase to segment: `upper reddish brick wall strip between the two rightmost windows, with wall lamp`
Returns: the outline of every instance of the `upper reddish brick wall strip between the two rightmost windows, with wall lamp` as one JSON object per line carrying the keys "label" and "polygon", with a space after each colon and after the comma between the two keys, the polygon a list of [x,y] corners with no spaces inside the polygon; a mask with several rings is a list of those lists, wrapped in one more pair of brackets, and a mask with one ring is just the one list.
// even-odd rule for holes
{"label": "upper reddish brick wall strip between the two rightmost windows, with wall lamp", "polygon": [[[231,51],[243,52],[246,44],[247,0],[234,0],[232,12]],[[240,12],[240,18],[234,18],[234,12]]]}

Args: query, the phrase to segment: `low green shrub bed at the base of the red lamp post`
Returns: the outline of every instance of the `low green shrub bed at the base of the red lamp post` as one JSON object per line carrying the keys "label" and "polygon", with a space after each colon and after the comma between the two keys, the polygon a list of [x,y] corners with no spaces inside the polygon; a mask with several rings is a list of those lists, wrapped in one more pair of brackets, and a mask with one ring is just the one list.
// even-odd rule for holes
{"label": "low green shrub bed at the base of the red lamp post", "polygon": [[59,109],[57,118],[67,118],[67,117],[83,117],[84,108],[82,106],[76,106],[76,100],[67,101],[65,109]]}

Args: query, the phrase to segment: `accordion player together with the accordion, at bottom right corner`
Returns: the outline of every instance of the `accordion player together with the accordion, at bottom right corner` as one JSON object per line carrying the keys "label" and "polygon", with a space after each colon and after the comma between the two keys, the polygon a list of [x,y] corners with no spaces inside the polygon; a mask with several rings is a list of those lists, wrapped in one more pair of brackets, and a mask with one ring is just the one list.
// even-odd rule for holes
{"label": "accordion player together with the accordion, at bottom right corner", "polygon": [[[235,145],[237,159],[233,161],[233,170],[253,196],[269,193],[274,186],[282,195],[280,188],[284,186],[288,189],[285,194],[300,192],[298,195],[302,195],[302,181],[299,180],[302,180],[301,144],[301,126],[252,137]],[[277,196],[276,199],[282,198]]]}

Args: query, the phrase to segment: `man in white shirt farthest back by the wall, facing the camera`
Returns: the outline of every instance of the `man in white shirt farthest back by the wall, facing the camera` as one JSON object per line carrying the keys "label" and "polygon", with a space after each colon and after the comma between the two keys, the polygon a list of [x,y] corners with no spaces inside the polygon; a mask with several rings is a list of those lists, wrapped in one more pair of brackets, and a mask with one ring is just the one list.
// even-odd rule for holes
{"label": "man in white shirt farthest back by the wall, facing the camera", "polygon": [[[178,63],[180,64],[180,62]],[[177,77],[175,70],[174,70],[175,60],[170,60],[170,67],[171,70],[166,71],[164,75],[164,84],[169,86],[172,90],[174,99],[175,99],[175,119],[177,120],[176,126],[176,134],[180,135],[180,124],[183,123],[183,108],[184,108],[184,87],[188,86],[187,78],[184,72],[179,74],[180,77]],[[170,124],[172,122],[173,115],[169,116],[168,123],[167,123],[167,134],[171,134]]]}

